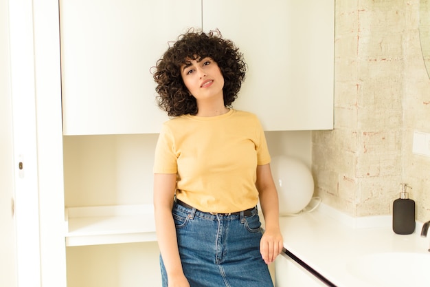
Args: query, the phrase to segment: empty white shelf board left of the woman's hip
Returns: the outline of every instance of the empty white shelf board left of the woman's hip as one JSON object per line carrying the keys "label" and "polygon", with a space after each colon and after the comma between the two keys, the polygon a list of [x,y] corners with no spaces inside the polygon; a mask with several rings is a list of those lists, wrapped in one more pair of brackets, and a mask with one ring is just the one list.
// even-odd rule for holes
{"label": "empty white shelf board left of the woman's hip", "polygon": [[65,209],[66,246],[157,241],[151,204]]}

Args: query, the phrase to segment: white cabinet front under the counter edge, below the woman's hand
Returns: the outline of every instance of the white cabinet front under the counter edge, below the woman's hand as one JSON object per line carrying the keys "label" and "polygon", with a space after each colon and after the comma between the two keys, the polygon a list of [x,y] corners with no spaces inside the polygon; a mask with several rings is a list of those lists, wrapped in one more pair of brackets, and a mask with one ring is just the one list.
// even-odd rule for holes
{"label": "white cabinet front under the counter edge, below the woman's hand", "polygon": [[282,253],[275,261],[275,287],[321,287],[323,281]]}

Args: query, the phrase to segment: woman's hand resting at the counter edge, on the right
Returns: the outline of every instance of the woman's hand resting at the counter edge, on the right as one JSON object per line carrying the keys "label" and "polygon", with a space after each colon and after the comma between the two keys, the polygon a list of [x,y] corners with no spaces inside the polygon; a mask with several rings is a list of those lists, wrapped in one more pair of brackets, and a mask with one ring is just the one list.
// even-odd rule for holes
{"label": "woman's hand resting at the counter edge, on the right", "polygon": [[266,264],[271,264],[284,248],[284,241],[280,230],[264,231],[260,241],[260,253]]}

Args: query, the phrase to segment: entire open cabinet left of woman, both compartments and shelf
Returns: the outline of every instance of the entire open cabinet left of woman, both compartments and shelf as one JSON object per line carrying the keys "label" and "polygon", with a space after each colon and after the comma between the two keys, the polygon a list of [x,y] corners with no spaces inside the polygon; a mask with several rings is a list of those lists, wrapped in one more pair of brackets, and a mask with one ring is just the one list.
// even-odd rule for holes
{"label": "entire open cabinet left of woman, both compartments and shelf", "polygon": [[152,210],[157,138],[63,137],[67,287],[161,285]]}

